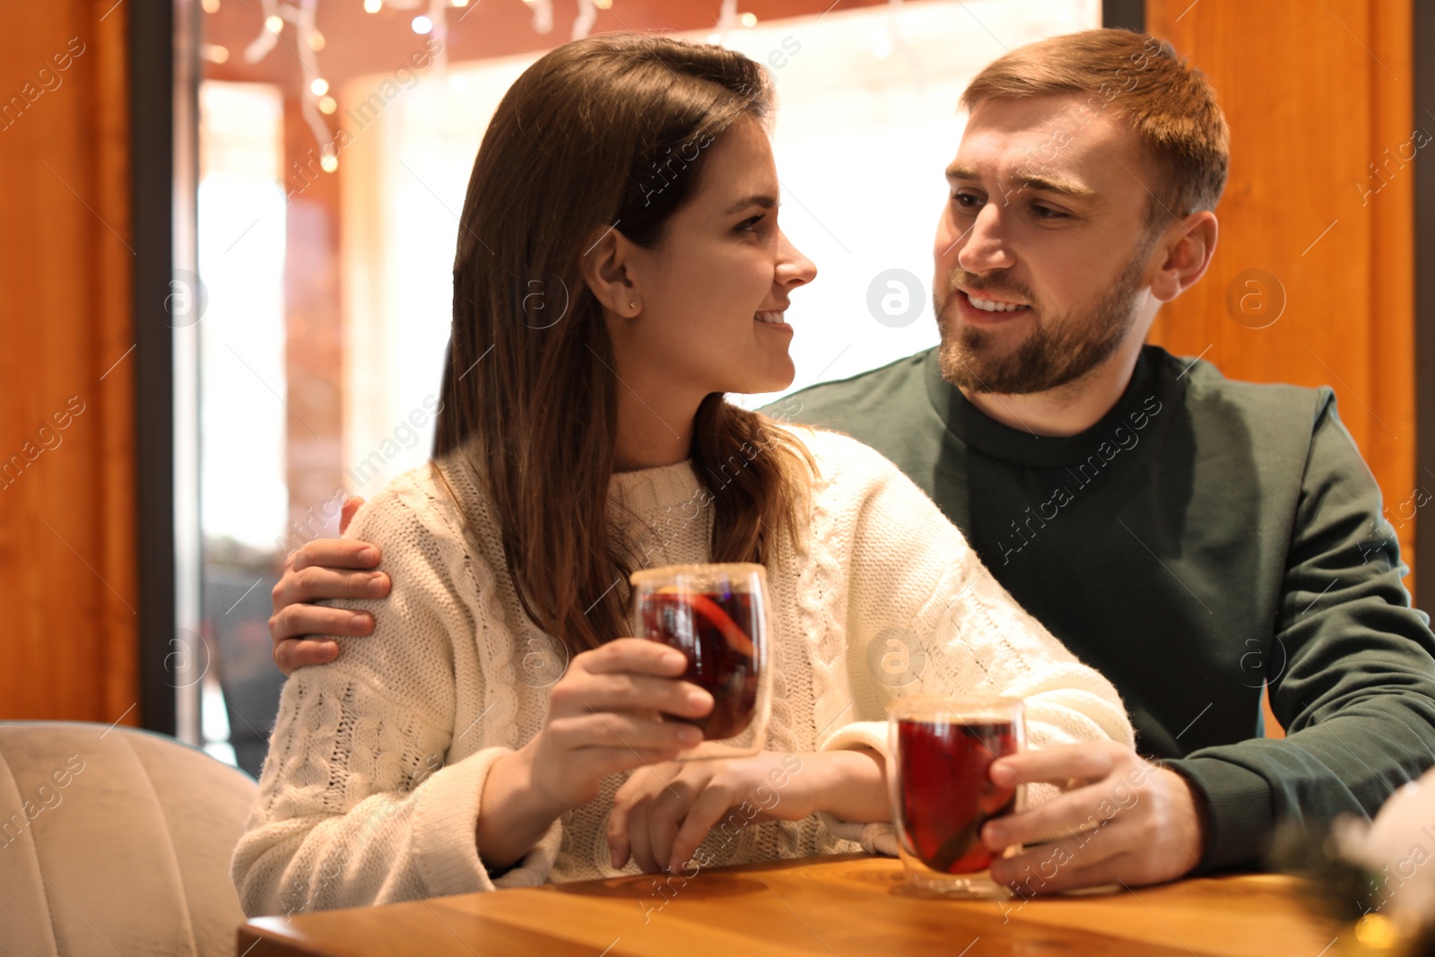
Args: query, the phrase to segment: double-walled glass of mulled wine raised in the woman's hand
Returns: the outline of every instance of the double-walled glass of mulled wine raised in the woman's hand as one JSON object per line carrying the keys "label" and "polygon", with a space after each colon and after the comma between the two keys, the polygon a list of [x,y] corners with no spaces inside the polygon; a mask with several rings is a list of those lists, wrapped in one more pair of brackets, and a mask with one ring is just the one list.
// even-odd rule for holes
{"label": "double-walled glass of mulled wine raised in the woman's hand", "polygon": [[663,715],[703,732],[703,740],[677,760],[762,750],[772,713],[768,570],[746,562],[669,565],[634,572],[631,583],[634,634],[682,651],[687,657],[682,679],[713,696],[702,717]]}

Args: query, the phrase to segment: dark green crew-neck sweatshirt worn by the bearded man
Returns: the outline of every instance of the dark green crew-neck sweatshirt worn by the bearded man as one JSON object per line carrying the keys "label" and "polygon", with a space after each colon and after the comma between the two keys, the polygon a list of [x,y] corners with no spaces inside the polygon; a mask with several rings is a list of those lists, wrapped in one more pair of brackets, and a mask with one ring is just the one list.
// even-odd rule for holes
{"label": "dark green crew-neck sweatshirt worn by the bearded man", "polygon": [[[1147,346],[1101,422],[1038,438],[928,350],[763,412],[895,462],[1112,680],[1139,750],[1205,798],[1200,871],[1258,862],[1281,821],[1375,814],[1435,763],[1435,636],[1330,389]],[[1261,736],[1267,683],[1283,740]]]}

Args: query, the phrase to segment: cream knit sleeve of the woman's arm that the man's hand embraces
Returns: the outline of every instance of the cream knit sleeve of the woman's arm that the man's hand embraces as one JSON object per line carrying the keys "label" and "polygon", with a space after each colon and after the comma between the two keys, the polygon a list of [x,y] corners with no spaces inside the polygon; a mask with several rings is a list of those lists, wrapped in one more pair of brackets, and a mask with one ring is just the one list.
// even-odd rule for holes
{"label": "cream knit sleeve of the woman's arm that the man's hand embraces", "polygon": [[[449,759],[453,650],[475,640],[476,590],[466,581],[462,532],[435,508],[432,486],[412,476],[366,504],[347,532],[380,547],[380,568],[393,585],[385,603],[334,604],[375,611],[375,633],[339,637],[337,661],[301,667],[284,686],[260,792],[231,864],[250,915],[495,885],[476,824],[484,781],[508,749]],[[499,882],[541,882],[558,829],[555,822]]]}

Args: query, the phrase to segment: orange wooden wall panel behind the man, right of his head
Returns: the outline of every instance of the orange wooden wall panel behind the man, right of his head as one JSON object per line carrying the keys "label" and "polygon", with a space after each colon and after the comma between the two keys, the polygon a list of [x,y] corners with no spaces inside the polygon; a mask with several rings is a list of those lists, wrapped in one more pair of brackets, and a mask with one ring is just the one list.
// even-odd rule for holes
{"label": "orange wooden wall panel behind the man, right of his head", "polygon": [[[1411,0],[1148,0],[1147,30],[1207,73],[1231,126],[1214,263],[1162,308],[1151,340],[1233,379],[1332,386],[1413,564],[1415,511],[1435,476],[1415,475],[1412,156],[1424,138],[1412,133],[1435,121],[1412,119]],[[1284,288],[1266,329],[1227,311],[1246,270]]]}

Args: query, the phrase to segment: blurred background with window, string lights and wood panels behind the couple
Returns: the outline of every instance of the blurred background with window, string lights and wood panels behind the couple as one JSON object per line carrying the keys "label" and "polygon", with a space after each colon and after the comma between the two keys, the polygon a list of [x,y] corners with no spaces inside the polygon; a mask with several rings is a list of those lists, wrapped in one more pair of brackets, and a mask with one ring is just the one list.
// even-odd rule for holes
{"label": "blurred background with window, string lights and wood panels behind the couple", "polygon": [[488,118],[544,52],[606,30],[771,70],[782,224],[819,268],[789,311],[794,389],[937,341],[931,237],[982,66],[1104,24],[1170,39],[1221,96],[1233,168],[1215,263],[1152,339],[1333,386],[1422,564],[1426,0],[7,6],[0,717],[141,725],[258,772],[284,555],[428,456]]}

